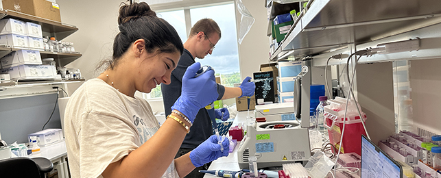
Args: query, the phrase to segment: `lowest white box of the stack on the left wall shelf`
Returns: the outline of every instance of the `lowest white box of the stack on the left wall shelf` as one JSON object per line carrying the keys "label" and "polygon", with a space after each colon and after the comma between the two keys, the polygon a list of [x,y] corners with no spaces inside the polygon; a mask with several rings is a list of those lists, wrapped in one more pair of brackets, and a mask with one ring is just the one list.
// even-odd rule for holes
{"label": "lowest white box of the stack on the left wall shelf", "polygon": [[43,75],[40,65],[21,65],[1,69],[1,73],[9,73],[11,79],[55,79],[55,76]]}

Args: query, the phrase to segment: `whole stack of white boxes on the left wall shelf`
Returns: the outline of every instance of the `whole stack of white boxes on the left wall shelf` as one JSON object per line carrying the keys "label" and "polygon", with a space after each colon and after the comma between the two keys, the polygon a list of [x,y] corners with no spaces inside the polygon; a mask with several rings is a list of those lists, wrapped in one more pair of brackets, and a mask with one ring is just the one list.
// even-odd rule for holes
{"label": "whole stack of white boxes on the left wall shelf", "polygon": [[[41,25],[23,22],[13,18],[0,20],[0,44],[13,48],[0,58],[1,74],[9,74],[10,79],[54,79],[56,68],[42,65],[40,51],[44,49]],[[40,50],[40,51],[39,51]]]}

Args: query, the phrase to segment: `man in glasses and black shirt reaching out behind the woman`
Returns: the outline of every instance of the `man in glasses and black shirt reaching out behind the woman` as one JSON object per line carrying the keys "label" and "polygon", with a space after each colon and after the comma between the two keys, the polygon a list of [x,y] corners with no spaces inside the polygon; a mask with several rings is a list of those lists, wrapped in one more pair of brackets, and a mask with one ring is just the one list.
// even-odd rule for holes
{"label": "man in glasses and black shirt reaching out behind the woman", "polygon": [[[171,106],[181,94],[182,76],[187,67],[195,63],[195,58],[203,59],[205,55],[211,54],[220,37],[220,28],[213,19],[203,18],[193,25],[189,38],[184,43],[184,53],[180,57],[178,66],[171,73],[171,84],[161,84],[166,115],[171,114]],[[217,99],[251,97],[256,86],[254,82],[249,82],[250,79],[250,77],[247,77],[241,86],[234,88],[217,84],[217,92],[219,93]],[[196,115],[190,133],[187,133],[187,136],[185,136],[176,157],[180,157],[180,155],[195,149],[211,135],[213,135],[211,120],[206,109],[202,108]],[[207,165],[195,168],[186,177],[203,177],[204,174],[199,173],[198,170],[206,170],[206,168],[208,168]]]}

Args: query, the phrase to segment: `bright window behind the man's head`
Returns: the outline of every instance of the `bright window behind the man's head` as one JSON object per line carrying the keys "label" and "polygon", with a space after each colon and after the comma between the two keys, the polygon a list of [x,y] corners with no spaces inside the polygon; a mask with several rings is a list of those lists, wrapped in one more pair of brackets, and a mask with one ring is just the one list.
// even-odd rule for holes
{"label": "bright window behind the man's head", "polygon": [[[196,62],[212,66],[215,69],[216,75],[221,77],[221,82],[224,86],[233,87],[233,84],[240,83],[234,3],[206,5],[202,8],[182,8],[184,10],[163,10],[163,12],[158,12],[158,17],[164,18],[165,21],[169,22],[178,31],[182,42],[187,40],[189,33],[187,29],[191,29],[186,24],[193,26],[202,18],[212,18],[216,21],[222,31],[222,38],[217,42],[212,55],[206,55],[202,60],[196,59]],[[186,23],[186,20],[191,21],[191,23]],[[152,92],[143,94],[143,96],[145,99],[162,98],[160,86],[156,86]]]}

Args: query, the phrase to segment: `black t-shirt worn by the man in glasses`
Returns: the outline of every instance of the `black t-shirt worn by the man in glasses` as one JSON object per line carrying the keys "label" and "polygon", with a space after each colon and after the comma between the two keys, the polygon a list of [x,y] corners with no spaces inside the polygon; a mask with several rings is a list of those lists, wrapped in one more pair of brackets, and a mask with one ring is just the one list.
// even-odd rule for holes
{"label": "black t-shirt worn by the man in glasses", "polygon": [[[193,63],[195,63],[193,56],[187,49],[184,49],[184,53],[182,53],[182,55],[180,56],[178,66],[176,66],[175,70],[171,72],[171,84],[160,84],[161,91],[163,92],[163,101],[166,116],[171,114],[171,106],[174,105],[175,101],[180,97],[182,88],[182,76],[184,76],[187,67]],[[224,97],[224,92],[224,86],[218,84],[218,100]],[[199,144],[204,142],[211,135],[213,135],[213,126],[211,125],[210,116],[208,116],[208,112],[205,110],[205,108],[202,108],[196,115],[193,126],[190,128],[190,133],[187,133],[184,142],[182,142],[180,147],[182,149],[195,149],[196,147],[198,147]]]}

